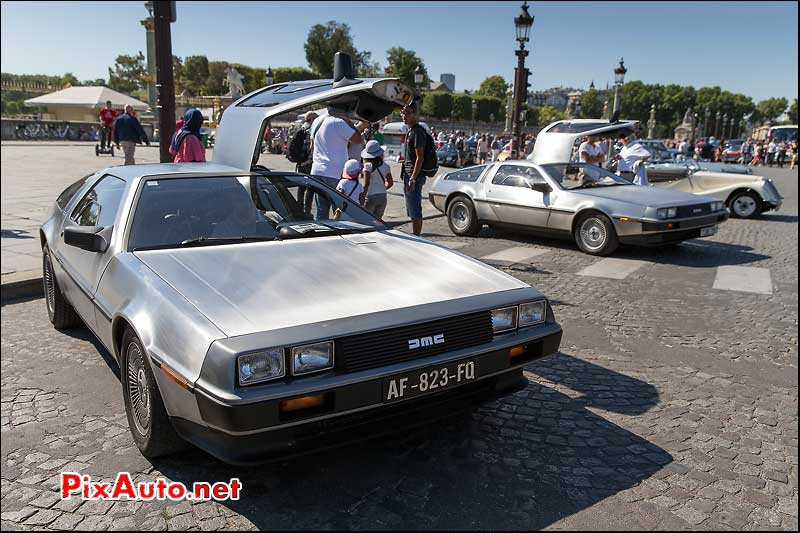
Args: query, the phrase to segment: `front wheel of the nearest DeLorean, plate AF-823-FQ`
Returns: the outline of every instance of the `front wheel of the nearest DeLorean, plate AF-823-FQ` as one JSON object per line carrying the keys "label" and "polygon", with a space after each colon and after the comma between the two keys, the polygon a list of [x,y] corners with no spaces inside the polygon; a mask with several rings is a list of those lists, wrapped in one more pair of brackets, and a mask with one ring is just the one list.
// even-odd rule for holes
{"label": "front wheel of the nearest DeLorean, plate AF-823-FQ", "polygon": [[128,427],[147,458],[163,457],[186,447],[167,416],[142,342],[130,328],[122,335],[120,377]]}

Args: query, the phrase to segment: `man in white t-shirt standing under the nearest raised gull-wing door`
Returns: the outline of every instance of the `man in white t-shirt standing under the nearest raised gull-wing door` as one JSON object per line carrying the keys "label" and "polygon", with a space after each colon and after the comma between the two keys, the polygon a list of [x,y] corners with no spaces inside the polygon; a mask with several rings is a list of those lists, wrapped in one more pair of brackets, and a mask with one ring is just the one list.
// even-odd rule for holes
{"label": "man in white t-shirt standing under the nearest raised gull-wing door", "polygon": [[[311,175],[335,189],[348,160],[348,143],[363,143],[361,133],[369,124],[331,113],[320,115],[311,124]],[[331,204],[323,194],[317,194],[317,220],[330,218]]]}

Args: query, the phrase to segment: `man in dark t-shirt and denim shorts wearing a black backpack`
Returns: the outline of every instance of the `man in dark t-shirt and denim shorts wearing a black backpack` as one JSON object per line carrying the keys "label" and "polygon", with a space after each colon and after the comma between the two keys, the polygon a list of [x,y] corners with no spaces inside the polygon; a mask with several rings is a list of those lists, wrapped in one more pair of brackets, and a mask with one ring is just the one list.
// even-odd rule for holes
{"label": "man in dark t-shirt and denim shorts wearing a black backpack", "polygon": [[404,149],[403,192],[406,199],[406,213],[411,219],[414,235],[422,233],[422,188],[426,178],[433,177],[439,169],[436,160],[436,146],[433,138],[419,123],[417,103],[411,102],[400,113],[408,126]]}

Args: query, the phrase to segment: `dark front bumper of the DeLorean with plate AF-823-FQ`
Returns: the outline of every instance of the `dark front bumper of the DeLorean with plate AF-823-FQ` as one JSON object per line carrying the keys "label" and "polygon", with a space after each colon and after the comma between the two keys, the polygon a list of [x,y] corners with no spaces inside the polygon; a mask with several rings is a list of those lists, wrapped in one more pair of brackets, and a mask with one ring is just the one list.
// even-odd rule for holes
{"label": "dark front bumper of the DeLorean with plate AF-823-FQ", "polygon": [[[391,373],[370,375],[361,381],[332,377],[330,387],[319,383],[308,393],[324,394],[322,408],[308,412],[282,413],[282,400],[303,396],[271,398],[234,405],[222,402],[202,389],[195,389],[197,406],[205,425],[173,418],[173,425],[186,440],[220,460],[249,464],[275,457],[306,453],[338,446],[426,423],[451,414],[460,408],[510,394],[524,388],[525,364],[558,351],[561,326],[547,322],[504,335],[508,342],[459,350],[386,367]],[[527,346],[525,355],[511,360],[511,349]],[[435,368],[444,363],[473,360],[476,379],[442,392],[432,392],[407,400],[384,402],[383,383],[387,378],[409,371]],[[335,384],[339,381],[341,384]],[[386,428],[377,422],[388,422]]]}

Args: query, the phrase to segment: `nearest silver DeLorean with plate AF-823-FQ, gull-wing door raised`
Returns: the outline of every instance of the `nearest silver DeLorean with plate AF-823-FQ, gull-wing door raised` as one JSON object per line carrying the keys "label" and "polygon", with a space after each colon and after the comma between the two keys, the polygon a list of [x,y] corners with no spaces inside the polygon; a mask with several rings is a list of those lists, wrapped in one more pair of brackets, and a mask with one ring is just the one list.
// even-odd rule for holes
{"label": "nearest silver DeLorean with plate AF-823-FQ, gull-wing door raised", "polygon": [[[85,324],[119,362],[145,456],[189,441],[250,463],[369,437],[380,419],[396,429],[517,391],[523,366],[558,350],[534,288],[255,164],[272,117],[324,104],[376,122],[411,101],[347,63],[233,103],[213,163],[99,170],[41,226],[50,320]],[[332,214],[306,215],[300,188]]]}

